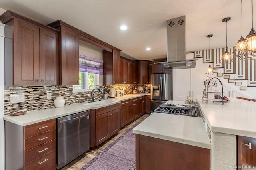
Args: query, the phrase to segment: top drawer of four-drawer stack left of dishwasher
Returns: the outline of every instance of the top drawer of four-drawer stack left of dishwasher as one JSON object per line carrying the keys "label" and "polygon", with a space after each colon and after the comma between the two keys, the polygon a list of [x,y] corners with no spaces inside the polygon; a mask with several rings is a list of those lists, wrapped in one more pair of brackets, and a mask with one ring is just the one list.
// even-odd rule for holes
{"label": "top drawer of four-drawer stack left of dishwasher", "polygon": [[28,126],[25,126],[24,138],[28,138],[30,136],[34,136],[42,132],[46,132],[54,128],[56,128],[56,119],[51,119],[48,121],[43,121],[40,123],[28,125]]}

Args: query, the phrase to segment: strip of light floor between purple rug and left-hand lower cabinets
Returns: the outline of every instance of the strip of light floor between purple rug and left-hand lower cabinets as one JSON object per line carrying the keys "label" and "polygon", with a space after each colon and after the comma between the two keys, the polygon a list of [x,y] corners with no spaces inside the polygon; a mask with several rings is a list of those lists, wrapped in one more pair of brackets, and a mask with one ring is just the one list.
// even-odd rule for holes
{"label": "strip of light floor between purple rug and left-hand lower cabinets", "polygon": [[144,119],[146,119],[149,116],[149,114],[144,114],[135,121],[131,122],[130,124],[126,125],[124,128],[122,128],[117,134],[112,136],[110,139],[106,140],[102,144],[100,144],[97,147],[92,148],[92,150],[89,150],[88,152],[82,154],[72,162],[70,162],[68,165],[64,166],[61,170],[80,170],[85,164],[87,164],[90,160],[92,160],[95,156],[97,156],[102,150],[104,150],[106,147],[108,147],[112,142],[114,142],[117,138],[122,136],[128,129],[130,129],[135,123],[142,122]]}

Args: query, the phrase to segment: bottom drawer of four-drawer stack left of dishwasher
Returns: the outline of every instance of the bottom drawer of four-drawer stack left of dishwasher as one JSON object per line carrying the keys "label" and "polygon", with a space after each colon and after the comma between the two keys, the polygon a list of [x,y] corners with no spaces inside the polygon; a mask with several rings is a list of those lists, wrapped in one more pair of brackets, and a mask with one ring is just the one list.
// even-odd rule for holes
{"label": "bottom drawer of four-drawer stack left of dishwasher", "polygon": [[24,170],[55,170],[56,169],[56,150],[24,164]]}

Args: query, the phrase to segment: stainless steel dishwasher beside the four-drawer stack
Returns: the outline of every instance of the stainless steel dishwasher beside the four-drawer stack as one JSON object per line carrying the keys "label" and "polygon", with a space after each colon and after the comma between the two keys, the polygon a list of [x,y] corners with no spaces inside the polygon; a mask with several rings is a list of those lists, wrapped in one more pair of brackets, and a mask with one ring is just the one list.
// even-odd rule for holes
{"label": "stainless steel dishwasher beside the four-drawer stack", "polygon": [[89,150],[90,111],[57,118],[57,169]]}

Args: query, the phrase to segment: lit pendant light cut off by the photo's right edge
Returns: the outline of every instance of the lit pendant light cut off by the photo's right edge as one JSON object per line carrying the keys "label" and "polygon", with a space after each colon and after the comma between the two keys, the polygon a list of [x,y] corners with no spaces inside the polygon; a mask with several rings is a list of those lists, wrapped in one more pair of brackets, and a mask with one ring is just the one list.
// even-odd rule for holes
{"label": "lit pendant light cut off by the photo's right edge", "polygon": [[253,29],[253,22],[252,29],[244,41],[244,56],[247,60],[256,59],[256,31]]}

